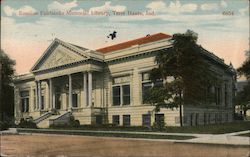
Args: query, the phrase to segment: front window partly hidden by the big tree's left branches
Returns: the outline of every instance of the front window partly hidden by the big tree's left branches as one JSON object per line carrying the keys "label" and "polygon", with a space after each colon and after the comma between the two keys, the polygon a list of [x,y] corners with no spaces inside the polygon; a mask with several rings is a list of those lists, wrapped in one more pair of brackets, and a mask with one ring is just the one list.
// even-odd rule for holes
{"label": "front window partly hidden by the big tree's left branches", "polygon": [[163,80],[159,79],[155,83],[149,79],[149,73],[142,73],[142,102],[145,103],[145,94],[152,87],[163,87]]}

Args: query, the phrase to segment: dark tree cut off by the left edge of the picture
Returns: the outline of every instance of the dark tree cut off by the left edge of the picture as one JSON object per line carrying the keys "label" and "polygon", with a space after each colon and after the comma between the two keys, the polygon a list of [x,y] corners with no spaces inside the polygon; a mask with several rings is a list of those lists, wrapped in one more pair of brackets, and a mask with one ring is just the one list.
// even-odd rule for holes
{"label": "dark tree cut off by the left edge of the picture", "polygon": [[9,56],[0,52],[0,120],[4,120],[4,115],[12,117],[14,113],[14,94],[12,78],[14,75],[15,61]]}

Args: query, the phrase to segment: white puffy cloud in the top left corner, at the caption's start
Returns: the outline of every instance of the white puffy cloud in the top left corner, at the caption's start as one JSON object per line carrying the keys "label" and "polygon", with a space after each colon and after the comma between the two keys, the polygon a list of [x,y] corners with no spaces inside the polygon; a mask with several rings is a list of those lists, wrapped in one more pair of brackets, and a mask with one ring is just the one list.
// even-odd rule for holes
{"label": "white puffy cloud in the top left corner, at the caption's start", "polygon": [[24,5],[20,7],[19,9],[14,9],[7,5],[3,8],[3,10],[7,16],[12,16],[13,14],[15,14],[16,16],[25,16],[24,14],[20,14],[20,13],[29,13],[29,14],[36,13],[36,9],[34,9],[33,7],[29,5]]}

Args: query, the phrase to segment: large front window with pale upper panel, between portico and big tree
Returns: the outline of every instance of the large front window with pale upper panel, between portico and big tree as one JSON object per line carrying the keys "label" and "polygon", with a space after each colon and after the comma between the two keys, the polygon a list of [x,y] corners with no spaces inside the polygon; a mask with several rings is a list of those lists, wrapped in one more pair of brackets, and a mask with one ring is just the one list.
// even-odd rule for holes
{"label": "large front window with pale upper panel, between portico and big tree", "polygon": [[123,76],[113,80],[113,106],[130,104],[130,77]]}

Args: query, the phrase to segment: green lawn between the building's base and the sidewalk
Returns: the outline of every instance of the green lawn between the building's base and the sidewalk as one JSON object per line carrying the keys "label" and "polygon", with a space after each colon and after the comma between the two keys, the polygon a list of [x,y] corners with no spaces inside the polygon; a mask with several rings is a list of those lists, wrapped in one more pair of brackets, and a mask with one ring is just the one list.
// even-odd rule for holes
{"label": "green lawn between the building's base and the sidewalk", "polygon": [[111,126],[111,125],[81,125],[78,127],[54,126],[52,129],[67,130],[95,130],[95,131],[146,131],[146,132],[169,132],[169,133],[198,133],[198,134],[223,134],[237,131],[250,130],[250,121],[239,121],[223,124],[211,124],[206,126],[184,126],[166,127],[164,130],[157,130],[142,126]]}

